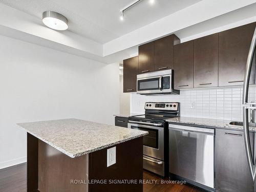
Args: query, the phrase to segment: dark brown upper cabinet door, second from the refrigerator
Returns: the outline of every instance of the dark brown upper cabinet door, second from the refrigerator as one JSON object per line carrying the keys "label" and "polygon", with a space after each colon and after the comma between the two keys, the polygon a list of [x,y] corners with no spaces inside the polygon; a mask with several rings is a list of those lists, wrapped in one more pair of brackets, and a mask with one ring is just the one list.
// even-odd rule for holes
{"label": "dark brown upper cabinet door, second from the refrigerator", "polygon": [[218,86],[218,33],[194,40],[194,87]]}

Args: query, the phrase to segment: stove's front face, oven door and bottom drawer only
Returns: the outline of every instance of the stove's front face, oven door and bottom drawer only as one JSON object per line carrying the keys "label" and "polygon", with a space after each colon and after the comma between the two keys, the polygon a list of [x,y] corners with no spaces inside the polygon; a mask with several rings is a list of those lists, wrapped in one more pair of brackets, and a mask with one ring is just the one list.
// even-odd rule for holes
{"label": "stove's front face, oven door and bottom drawer only", "polygon": [[143,168],[164,176],[164,123],[129,120],[128,127],[148,132],[143,136]]}

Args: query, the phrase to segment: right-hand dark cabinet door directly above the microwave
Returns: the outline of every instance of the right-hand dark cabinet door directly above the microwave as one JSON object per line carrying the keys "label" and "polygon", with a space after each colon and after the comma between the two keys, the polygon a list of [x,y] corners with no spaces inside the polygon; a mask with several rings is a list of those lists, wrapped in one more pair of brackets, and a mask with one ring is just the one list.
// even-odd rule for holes
{"label": "right-hand dark cabinet door directly above the microwave", "polygon": [[173,69],[174,45],[179,43],[174,34],[155,40],[155,71]]}

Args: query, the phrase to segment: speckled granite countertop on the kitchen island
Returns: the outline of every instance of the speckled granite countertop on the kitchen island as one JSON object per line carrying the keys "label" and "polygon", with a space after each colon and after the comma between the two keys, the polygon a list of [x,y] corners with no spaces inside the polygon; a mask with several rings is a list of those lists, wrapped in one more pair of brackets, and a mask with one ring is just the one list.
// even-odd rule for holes
{"label": "speckled granite countertop on the kitchen island", "polygon": [[80,119],[18,123],[20,127],[69,157],[79,157],[148,132]]}

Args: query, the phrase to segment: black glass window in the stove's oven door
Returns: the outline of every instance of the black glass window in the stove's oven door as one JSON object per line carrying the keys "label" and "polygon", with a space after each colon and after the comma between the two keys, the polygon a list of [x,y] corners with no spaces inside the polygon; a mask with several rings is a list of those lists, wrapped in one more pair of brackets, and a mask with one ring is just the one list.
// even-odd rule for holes
{"label": "black glass window in the stove's oven door", "polygon": [[158,142],[159,142],[158,130],[144,128],[144,127],[142,128],[139,126],[131,126],[131,128],[135,130],[147,131],[148,135],[143,136],[143,145],[153,147],[153,148],[158,148]]}

